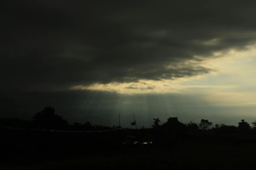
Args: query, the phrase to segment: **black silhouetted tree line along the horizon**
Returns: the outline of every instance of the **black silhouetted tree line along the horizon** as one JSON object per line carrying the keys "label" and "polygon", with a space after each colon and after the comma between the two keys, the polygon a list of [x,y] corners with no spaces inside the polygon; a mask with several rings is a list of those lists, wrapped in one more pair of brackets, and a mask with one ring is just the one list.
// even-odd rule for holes
{"label": "black silhouetted tree line along the horizon", "polygon": [[[159,125],[159,118],[153,119],[154,124],[152,128],[156,128]],[[200,124],[190,123],[187,124],[190,130],[220,130],[220,131],[256,131],[256,121],[252,122],[252,126],[245,120],[238,122],[238,126],[225,125],[225,124],[215,124],[215,127],[210,128],[213,122],[209,120],[202,119]],[[48,129],[48,130],[71,130],[71,131],[104,131],[121,128],[119,126],[103,126],[103,125],[92,125],[91,122],[87,121],[85,123],[74,122],[73,125],[68,124],[67,120],[63,119],[61,116],[55,113],[53,107],[45,107],[40,112],[37,112],[33,116],[33,120],[19,120],[19,119],[0,119],[1,126],[9,127],[19,127],[19,128],[31,128],[31,129]],[[142,129],[146,129],[144,126]]]}

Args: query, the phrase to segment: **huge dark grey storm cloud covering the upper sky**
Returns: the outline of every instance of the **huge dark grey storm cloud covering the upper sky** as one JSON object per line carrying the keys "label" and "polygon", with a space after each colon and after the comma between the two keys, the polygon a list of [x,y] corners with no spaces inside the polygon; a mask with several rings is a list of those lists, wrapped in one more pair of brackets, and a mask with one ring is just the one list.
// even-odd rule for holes
{"label": "huge dark grey storm cloud covering the upper sky", "polygon": [[[1,90],[207,74],[213,70],[187,61],[246,50],[256,39],[255,4],[8,1],[1,28]],[[206,43],[213,39],[215,44]]]}

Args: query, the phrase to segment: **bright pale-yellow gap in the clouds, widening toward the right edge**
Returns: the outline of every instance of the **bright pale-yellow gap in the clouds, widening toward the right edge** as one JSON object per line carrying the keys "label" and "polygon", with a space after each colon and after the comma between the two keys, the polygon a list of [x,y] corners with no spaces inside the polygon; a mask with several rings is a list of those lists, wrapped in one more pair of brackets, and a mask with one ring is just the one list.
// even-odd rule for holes
{"label": "bright pale-yellow gap in the clouds, widening toward the right edge", "polygon": [[[218,54],[220,55],[220,54]],[[218,106],[248,106],[256,104],[256,49],[235,51],[205,60],[201,66],[211,68],[209,74],[175,80],[140,80],[137,83],[92,84],[73,86],[73,90],[100,90],[120,94],[179,93],[199,96]],[[129,104],[126,101],[123,105]],[[140,103],[140,101],[137,101]]]}

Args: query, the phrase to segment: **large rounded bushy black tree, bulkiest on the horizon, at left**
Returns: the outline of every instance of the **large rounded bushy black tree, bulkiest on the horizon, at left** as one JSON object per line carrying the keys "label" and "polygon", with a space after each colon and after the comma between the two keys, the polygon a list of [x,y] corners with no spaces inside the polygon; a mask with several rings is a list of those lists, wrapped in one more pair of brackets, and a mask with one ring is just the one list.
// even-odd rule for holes
{"label": "large rounded bushy black tree, bulkiest on the horizon, at left", "polygon": [[43,129],[65,129],[68,125],[67,120],[55,114],[53,107],[45,107],[33,117],[33,123],[36,128]]}

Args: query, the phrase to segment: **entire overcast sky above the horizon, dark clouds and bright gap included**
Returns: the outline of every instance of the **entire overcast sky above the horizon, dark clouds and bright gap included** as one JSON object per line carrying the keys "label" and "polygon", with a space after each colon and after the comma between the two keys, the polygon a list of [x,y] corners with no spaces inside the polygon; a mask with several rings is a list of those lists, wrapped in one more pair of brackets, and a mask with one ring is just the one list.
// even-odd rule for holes
{"label": "entire overcast sky above the horizon, dark clouds and bright gap included", "polygon": [[[254,1],[7,1],[2,117],[256,120]],[[19,113],[18,113],[19,112]],[[131,115],[131,116],[130,116]],[[27,116],[29,117],[29,116]],[[152,122],[150,122],[152,121]]]}

